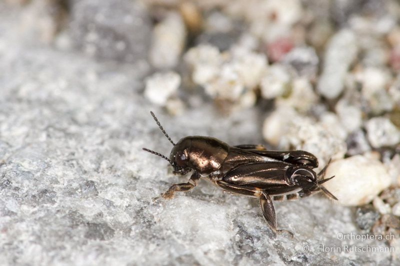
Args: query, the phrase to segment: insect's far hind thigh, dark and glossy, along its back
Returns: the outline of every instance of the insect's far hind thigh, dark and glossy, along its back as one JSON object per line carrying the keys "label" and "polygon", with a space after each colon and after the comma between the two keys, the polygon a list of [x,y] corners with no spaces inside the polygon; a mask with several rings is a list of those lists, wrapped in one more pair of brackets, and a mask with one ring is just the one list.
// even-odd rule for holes
{"label": "insect's far hind thigh, dark and glossy, along its back", "polygon": [[306,151],[268,151],[262,145],[252,144],[237,145],[234,147],[290,164],[305,165],[311,168],[318,167],[318,159],[316,159],[313,154]]}

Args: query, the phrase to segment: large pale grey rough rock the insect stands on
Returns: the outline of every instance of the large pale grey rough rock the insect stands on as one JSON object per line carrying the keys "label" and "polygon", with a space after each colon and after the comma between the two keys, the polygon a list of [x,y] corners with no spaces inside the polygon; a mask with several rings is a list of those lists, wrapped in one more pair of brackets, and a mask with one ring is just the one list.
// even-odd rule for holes
{"label": "large pale grey rough rock the insect stands on", "polygon": [[208,135],[230,144],[261,143],[265,113],[248,108],[223,117],[199,101],[170,117],[144,98],[141,68],[30,45],[15,26],[15,13],[1,2],[1,265],[397,263],[398,249],[322,249],[387,247],[341,238],[361,233],[353,211],[323,196],[275,203],[278,226],[293,239],[272,238],[256,200],[223,194],[203,181],[192,193],[153,203],[187,177],[172,175],[165,160],[141,150],[171,149],[149,110],[175,142]]}

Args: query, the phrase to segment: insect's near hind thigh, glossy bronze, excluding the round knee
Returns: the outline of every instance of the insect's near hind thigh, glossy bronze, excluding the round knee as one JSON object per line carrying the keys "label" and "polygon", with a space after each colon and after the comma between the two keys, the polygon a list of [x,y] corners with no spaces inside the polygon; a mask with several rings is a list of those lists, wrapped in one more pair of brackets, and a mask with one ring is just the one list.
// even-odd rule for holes
{"label": "insect's near hind thigh, glossy bronze, excluding the round knee", "polygon": [[222,181],[243,187],[256,187],[268,195],[284,195],[300,190],[291,185],[286,173],[292,166],[284,162],[249,163],[238,166],[222,177]]}

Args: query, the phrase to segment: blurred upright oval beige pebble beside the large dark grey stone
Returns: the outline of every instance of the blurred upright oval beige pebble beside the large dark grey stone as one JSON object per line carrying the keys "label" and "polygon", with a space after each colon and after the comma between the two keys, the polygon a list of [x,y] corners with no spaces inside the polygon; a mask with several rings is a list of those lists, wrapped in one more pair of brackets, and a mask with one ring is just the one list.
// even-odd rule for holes
{"label": "blurred upright oval beige pebble beside the large dark grey stone", "polygon": [[150,62],[157,68],[170,68],[177,65],[186,39],[186,28],[182,17],[170,12],[155,25],[152,33]]}

